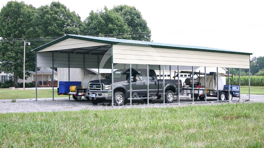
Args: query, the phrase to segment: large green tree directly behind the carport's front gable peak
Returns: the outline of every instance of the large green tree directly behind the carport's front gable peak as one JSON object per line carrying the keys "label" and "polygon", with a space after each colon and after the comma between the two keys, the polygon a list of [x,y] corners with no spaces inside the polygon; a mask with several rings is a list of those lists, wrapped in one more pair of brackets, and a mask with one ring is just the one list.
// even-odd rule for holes
{"label": "large green tree directly behind the carport's front gable peak", "polygon": [[80,33],[81,18],[71,12],[60,2],[51,2],[50,6],[42,6],[39,10],[38,28],[42,37],[61,37],[65,34]]}

